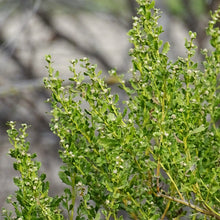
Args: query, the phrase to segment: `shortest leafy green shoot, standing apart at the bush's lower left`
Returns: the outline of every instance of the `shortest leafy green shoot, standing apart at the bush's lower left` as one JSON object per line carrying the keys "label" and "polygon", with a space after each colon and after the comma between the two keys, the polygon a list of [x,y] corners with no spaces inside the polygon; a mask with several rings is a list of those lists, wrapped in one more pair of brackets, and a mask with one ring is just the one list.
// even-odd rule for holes
{"label": "shortest leafy green shoot, standing apart at the bush's lower left", "polygon": [[[46,175],[38,175],[40,163],[34,161],[36,154],[28,153],[29,142],[27,137],[27,125],[17,130],[14,122],[9,122],[10,129],[8,136],[13,149],[9,150],[9,155],[16,159],[14,169],[20,173],[20,177],[14,178],[14,183],[18,187],[15,192],[15,198],[9,196],[8,203],[14,206],[16,219],[63,219],[60,214],[58,197],[51,198],[48,196],[49,183],[45,182]],[[14,219],[12,212],[3,209],[4,219]]]}

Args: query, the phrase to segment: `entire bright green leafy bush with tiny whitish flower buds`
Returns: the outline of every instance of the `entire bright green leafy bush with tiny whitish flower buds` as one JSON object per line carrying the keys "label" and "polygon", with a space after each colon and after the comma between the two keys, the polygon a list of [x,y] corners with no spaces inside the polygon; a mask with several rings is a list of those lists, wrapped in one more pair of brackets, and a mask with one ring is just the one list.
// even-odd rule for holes
{"label": "entire bright green leafy bush with tiny whitish flower buds", "polygon": [[[220,219],[220,8],[207,28],[212,51],[202,51],[198,67],[196,33],[189,32],[185,41],[186,58],[170,61],[154,1],[137,2],[138,17],[129,32],[134,45],[130,86],[110,71],[129,97],[123,110],[87,58],[71,61],[72,77],[64,86],[46,57],[51,130],[60,138],[59,177],[67,188],[61,197],[48,196],[45,175],[38,177],[39,163],[27,152],[26,125],[19,135],[10,123],[10,155],[21,174],[14,180],[17,200],[11,202],[16,219],[62,219],[59,207],[68,219],[77,215],[78,220],[123,219],[120,210],[132,219]],[[83,102],[89,108],[83,109]],[[11,219],[6,210],[3,216]]]}

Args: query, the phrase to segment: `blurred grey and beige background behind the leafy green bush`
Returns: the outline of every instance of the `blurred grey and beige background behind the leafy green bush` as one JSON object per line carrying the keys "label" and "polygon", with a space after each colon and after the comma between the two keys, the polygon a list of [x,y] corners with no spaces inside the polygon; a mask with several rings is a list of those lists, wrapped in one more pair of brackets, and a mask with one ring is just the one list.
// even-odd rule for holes
{"label": "blurred grey and beige background behind the leafy green bush", "polygon": [[[219,0],[158,0],[156,5],[163,11],[161,38],[170,42],[172,60],[185,56],[184,38],[189,30],[197,32],[199,49],[208,46],[205,27]],[[57,177],[59,140],[49,130],[50,106],[45,103],[49,97],[43,87],[45,55],[52,56],[62,78],[69,76],[69,61],[81,57],[97,63],[106,77],[108,70],[116,68],[128,78],[132,45],[127,32],[136,7],[135,0],[0,0],[0,209],[16,190],[13,176],[18,175],[7,156],[11,147],[7,121],[31,125],[30,151],[38,154],[51,195],[63,189]],[[196,59],[202,57],[198,54]]]}

